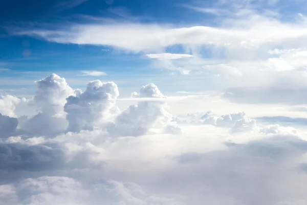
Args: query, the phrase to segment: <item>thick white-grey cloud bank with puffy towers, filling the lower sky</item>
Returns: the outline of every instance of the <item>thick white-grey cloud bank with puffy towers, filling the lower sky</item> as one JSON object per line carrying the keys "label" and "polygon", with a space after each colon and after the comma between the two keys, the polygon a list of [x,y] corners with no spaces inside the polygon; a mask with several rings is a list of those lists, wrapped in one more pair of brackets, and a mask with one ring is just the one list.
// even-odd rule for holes
{"label": "thick white-grey cloud bank with puffy towers, filling the lower sky", "polygon": [[113,82],[35,84],[33,97],[0,97],[0,204],[307,203],[303,129],[245,112],[174,116],[154,84],[125,109]]}

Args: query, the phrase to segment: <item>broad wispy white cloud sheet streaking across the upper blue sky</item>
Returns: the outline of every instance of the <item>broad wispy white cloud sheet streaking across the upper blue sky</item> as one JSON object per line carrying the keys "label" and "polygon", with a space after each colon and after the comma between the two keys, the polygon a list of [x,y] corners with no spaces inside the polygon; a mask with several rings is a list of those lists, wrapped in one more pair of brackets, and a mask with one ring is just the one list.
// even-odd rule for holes
{"label": "broad wispy white cloud sheet streaking across the upper blue sky", "polygon": [[[219,76],[217,82],[222,81],[223,85],[231,87],[256,87],[260,83],[268,87],[290,87],[289,84],[280,83],[286,76],[291,79],[291,84],[304,84],[306,76],[301,76],[306,63],[303,53],[300,51],[300,55],[296,56],[276,52],[307,47],[306,20],[300,18],[293,19],[291,23],[282,22],[282,14],[259,10],[254,7],[258,3],[267,5],[267,1],[224,3],[232,5],[230,8],[234,8],[235,12],[216,19],[217,26],[102,23],[74,24],[65,30],[24,29],[12,32],[39,36],[57,43],[111,46],[147,54],[148,57],[160,59],[152,60],[154,67],[167,69],[172,74]],[[201,6],[194,7],[203,9]],[[206,9],[214,12],[214,9],[221,8],[213,6],[211,10]],[[182,58],[187,54],[171,53],[172,47],[177,46],[182,47],[181,52],[193,57]],[[243,79],[233,80],[238,77]],[[261,82],[257,79],[261,79]]]}

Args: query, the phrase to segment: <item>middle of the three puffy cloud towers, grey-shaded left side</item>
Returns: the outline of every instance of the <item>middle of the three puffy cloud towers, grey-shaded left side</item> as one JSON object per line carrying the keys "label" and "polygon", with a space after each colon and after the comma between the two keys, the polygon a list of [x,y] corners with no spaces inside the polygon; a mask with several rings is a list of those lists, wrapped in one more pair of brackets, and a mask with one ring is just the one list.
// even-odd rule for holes
{"label": "middle of the three puffy cloud towers, grey-shaded left side", "polygon": [[95,80],[87,84],[86,90],[77,90],[75,96],[67,98],[64,111],[67,112],[69,131],[91,130],[117,112],[115,100],[119,96],[113,82],[101,83]]}

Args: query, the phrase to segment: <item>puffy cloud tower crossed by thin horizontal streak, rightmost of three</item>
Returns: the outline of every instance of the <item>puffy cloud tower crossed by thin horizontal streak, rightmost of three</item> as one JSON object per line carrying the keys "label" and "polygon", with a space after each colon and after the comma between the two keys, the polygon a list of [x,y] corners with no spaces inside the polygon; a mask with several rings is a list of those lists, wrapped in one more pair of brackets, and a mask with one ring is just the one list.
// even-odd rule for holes
{"label": "puffy cloud tower crossed by thin horizontal streak, rightmost of three", "polygon": [[[154,84],[142,86],[140,93],[133,92],[131,97],[165,98]],[[146,134],[150,128],[164,128],[165,132],[181,133],[177,122],[167,112],[165,101],[139,101],[122,111],[110,124],[108,132],[119,136],[139,136]]]}

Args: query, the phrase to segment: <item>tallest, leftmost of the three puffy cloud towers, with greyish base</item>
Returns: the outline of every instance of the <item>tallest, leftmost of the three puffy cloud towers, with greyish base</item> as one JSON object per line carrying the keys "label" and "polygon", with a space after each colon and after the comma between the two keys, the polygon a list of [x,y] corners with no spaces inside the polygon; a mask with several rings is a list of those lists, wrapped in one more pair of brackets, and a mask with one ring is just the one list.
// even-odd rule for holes
{"label": "tallest, leftmost of the three puffy cloud towers, with greyish base", "polygon": [[36,92],[28,108],[36,109],[36,115],[19,117],[19,127],[30,135],[53,135],[68,127],[63,107],[66,98],[74,93],[64,78],[52,74],[35,82]]}

